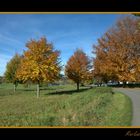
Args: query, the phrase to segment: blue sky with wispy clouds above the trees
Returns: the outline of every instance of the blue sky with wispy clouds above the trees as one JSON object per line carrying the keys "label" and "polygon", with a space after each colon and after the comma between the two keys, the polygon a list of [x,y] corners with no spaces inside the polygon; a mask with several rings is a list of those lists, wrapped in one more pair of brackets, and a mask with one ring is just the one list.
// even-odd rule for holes
{"label": "blue sky with wispy clouds above the trees", "polygon": [[46,36],[61,51],[66,64],[76,48],[92,57],[92,46],[124,15],[120,14],[0,14],[0,75],[17,52],[32,39]]}

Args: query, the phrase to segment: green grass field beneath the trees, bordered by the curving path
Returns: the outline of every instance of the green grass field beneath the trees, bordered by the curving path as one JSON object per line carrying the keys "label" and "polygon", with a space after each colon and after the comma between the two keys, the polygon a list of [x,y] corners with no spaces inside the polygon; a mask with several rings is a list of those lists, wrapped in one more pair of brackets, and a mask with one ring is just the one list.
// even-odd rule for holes
{"label": "green grass field beneath the trees, bordered by the curving path", "polygon": [[0,85],[0,126],[130,126],[132,107],[122,93],[108,87],[86,88],[73,85],[35,87]]}

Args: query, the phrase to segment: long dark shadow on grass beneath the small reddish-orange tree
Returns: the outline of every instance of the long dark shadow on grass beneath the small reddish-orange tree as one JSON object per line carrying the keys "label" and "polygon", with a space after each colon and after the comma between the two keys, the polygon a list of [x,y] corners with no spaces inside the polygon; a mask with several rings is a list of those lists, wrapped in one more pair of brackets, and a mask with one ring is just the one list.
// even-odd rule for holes
{"label": "long dark shadow on grass beneath the small reddish-orange tree", "polygon": [[77,91],[77,90],[61,90],[61,91],[49,92],[49,93],[46,93],[45,95],[63,95],[63,94],[82,93],[82,92],[87,91],[89,89],[91,89],[91,88],[79,89],[79,91]]}

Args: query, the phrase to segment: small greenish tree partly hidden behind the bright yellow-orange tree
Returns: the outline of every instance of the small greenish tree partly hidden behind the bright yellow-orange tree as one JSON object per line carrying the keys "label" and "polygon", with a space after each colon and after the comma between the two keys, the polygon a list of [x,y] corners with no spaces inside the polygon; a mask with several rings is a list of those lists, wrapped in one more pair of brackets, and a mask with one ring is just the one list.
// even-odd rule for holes
{"label": "small greenish tree partly hidden behind the bright yellow-orange tree", "polygon": [[16,77],[17,69],[19,68],[21,61],[21,56],[15,54],[14,57],[7,63],[6,71],[4,73],[4,77],[7,82],[11,82],[14,85],[14,92],[16,91],[16,87],[18,85],[19,80]]}

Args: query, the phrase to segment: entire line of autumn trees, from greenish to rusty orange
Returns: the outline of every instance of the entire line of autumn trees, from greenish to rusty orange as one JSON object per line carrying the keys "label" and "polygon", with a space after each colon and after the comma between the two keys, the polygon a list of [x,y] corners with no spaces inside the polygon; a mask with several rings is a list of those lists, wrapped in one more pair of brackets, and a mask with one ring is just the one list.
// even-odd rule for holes
{"label": "entire line of autumn trees, from greenish to rusty orange", "polygon": [[[60,78],[62,65],[60,51],[55,50],[45,37],[30,40],[27,50],[7,63],[5,78],[14,84],[31,81],[37,85]],[[140,18],[127,16],[119,19],[93,45],[93,57],[89,59],[82,49],[77,49],[65,66],[65,75],[79,85],[96,79],[98,83],[140,81]]]}

